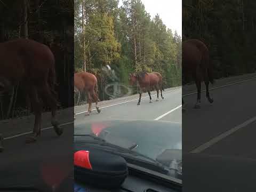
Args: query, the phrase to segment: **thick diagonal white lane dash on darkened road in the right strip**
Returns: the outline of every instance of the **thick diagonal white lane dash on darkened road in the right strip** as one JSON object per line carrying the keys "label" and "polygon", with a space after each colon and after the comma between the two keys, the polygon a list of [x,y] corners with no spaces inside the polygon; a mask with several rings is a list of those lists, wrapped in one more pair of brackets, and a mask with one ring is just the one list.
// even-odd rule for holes
{"label": "thick diagonal white lane dash on darkened road in the right strip", "polygon": [[256,116],[253,117],[253,118],[250,118],[248,119],[247,121],[245,121],[244,123],[240,124],[240,125],[237,125],[235,126],[233,129],[230,129],[222,134],[220,134],[219,136],[211,139],[210,141],[204,143],[203,145],[195,148],[194,150],[190,151],[190,153],[200,153],[202,152],[203,150],[209,148],[210,146],[214,145],[215,143],[219,142],[220,140],[228,137],[230,134],[236,132],[237,130],[245,127],[246,125],[249,125],[250,123],[256,121]]}

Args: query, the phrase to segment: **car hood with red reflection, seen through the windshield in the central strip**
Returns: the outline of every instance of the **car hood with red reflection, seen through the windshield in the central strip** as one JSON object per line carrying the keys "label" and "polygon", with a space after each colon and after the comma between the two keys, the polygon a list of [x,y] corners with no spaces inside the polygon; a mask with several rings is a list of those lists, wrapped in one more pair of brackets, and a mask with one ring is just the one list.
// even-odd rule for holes
{"label": "car hood with red reflection, seen through the windshield in the central strip", "polygon": [[[155,132],[156,127],[157,132]],[[165,171],[169,170],[164,171],[164,174],[181,179],[181,124],[111,120],[77,124],[75,133],[76,143],[83,143],[82,145],[87,143],[86,146],[94,146],[94,148],[107,150],[109,153],[121,154],[128,161],[131,161],[132,157],[133,164],[143,167],[147,167],[145,161],[156,163],[155,166],[162,167]],[[81,145],[78,146],[81,147]],[[144,163],[140,163],[141,161]],[[149,167],[153,169],[151,166]]]}

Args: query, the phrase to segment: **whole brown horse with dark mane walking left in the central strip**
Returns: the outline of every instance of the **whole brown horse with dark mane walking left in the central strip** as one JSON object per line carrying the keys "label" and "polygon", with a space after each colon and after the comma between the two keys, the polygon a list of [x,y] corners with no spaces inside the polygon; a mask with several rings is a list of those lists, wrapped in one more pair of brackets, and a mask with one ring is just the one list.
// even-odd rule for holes
{"label": "whole brown horse with dark mane walking left in the central strip", "polygon": [[150,90],[151,89],[156,89],[157,92],[157,99],[156,101],[158,101],[159,99],[159,90],[161,91],[161,97],[162,99],[164,99],[162,91],[164,91],[163,89],[163,79],[162,79],[162,75],[159,74],[158,72],[153,72],[153,73],[146,73],[146,72],[138,72],[138,73],[133,73],[129,75],[129,82],[130,85],[134,85],[135,82],[138,82],[139,84],[139,94],[140,94],[140,98],[139,101],[137,103],[137,105],[140,105],[140,101],[141,101],[141,94],[142,91],[148,91],[148,95],[149,95],[149,103],[151,103],[151,94],[150,94]]}

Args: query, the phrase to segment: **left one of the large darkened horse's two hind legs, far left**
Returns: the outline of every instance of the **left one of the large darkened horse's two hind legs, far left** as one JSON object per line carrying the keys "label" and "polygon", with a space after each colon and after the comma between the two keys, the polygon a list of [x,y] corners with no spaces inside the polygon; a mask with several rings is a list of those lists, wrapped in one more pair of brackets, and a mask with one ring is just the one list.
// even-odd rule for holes
{"label": "left one of the large darkened horse's two hind legs, far left", "polygon": [[39,101],[38,92],[35,86],[31,86],[27,90],[35,114],[33,135],[26,139],[26,143],[31,143],[36,142],[38,135],[41,134],[42,103]]}

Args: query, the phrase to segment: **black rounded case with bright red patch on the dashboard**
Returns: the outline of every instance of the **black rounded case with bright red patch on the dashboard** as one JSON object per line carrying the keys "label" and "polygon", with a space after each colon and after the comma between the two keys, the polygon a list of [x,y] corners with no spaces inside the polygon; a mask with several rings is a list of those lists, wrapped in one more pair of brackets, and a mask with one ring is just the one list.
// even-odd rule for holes
{"label": "black rounded case with bright red patch on the dashboard", "polygon": [[[86,150],[87,155],[81,153]],[[127,163],[121,156],[95,148],[76,150],[75,156],[74,177],[78,182],[100,188],[118,188],[128,175]],[[87,163],[87,166],[81,163]]]}

